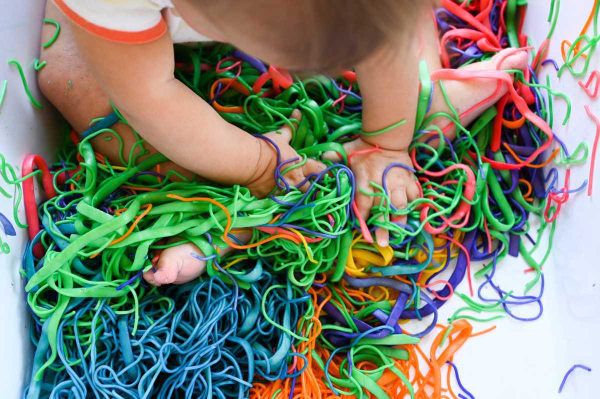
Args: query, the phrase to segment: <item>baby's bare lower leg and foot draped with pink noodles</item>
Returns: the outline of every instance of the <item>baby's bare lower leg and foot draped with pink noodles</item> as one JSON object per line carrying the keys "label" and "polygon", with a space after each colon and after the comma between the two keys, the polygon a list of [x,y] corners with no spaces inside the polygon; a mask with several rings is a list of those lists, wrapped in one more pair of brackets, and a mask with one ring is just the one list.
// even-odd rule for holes
{"label": "baby's bare lower leg and foot draped with pink noodles", "polygon": [[[514,49],[505,49],[493,56],[488,61],[475,62],[467,65],[461,70],[465,71],[481,71],[481,70],[523,70],[527,68],[527,52],[520,51],[516,52],[508,57],[504,57],[507,52],[514,52]],[[498,65],[498,62],[501,62]],[[470,79],[470,80],[443,80],[443,85],[448,94],[448,98],[452,106],[456,109],[458,115],[461,115],[465,111],[469,110],[481,101],[486,100],[488,97],[496,92],[498,81],[495,79]],[[480,104],[473,112],[470,112],[464,118],[460,119],[461,125],[466,126],[471,122],[475,121],[479,115],[485,110],[496,103],[503,95],[508,92],[508,85],[505,82],[500,83],[500,91],[494,97],[491,97],[485,103]],[[436,82],[433,96],[433,103],[431,104],[431,110],[428,114],[433,115],[436,112],[448,112],[452,115],[449,110],[446,101],[443,98],[442,91],[440,90],[439,82]],[[438,127],[445,130],[449,125],[448,118],[439,116],[430,124],[437,125]],[[444,135],[449,139],[454,139],[456,134],[456,128],[454,124],[448,130],[445,130]],[[426,139],[424,137],[424,139]]]}

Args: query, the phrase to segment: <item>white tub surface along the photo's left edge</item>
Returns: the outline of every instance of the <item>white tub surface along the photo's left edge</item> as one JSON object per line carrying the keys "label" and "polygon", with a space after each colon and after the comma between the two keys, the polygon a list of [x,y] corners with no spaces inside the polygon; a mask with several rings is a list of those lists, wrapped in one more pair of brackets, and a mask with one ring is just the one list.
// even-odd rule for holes
{"label": "white tub surface along the photo's left edge", "polygon": [[[52,157],[50,132],[59,126],[46,101],[40,101],[42,110],[29,103],[16,67],[6,62],[7,59],[20,62],[34,97],[41,100],[32,65],[40,51],[44,4],[40,0],[0,0],[0,84],[8,80],[4,104],[0,107],[0,152],[13,167],[19,167],[16,171],[19,177],[25,155]],[[13,193],[12,187],[3,181],[0,184]],[[15,226],[12,199],[0,199],[0,212]],[[25,223],[23,209],[19,220]],[[19,274],[27,232],[16,226],[15,229],[17,236],[8,238],[0,229],[2,241],[10,245],[10,254],[0,253],[0,397],[7,399],[21,397],[25,381],[29,380],[32,359],[25,291]]]}

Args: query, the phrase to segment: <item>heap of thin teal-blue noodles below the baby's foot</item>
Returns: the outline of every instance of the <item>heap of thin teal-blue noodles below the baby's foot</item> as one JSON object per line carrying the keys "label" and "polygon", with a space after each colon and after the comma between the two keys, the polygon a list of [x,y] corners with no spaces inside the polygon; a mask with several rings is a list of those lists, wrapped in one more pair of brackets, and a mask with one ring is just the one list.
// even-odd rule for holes
{"label": "heap of thin teal-blue noodles below the baby's foot", "polygon": [[[255,373],[265,380],[298,375],[303,370],[288,373],[288,362],[305,356],[259,309],[265,290],[280,282],[266,298],[266,314],[293,328],[309,297],[266,269],[238,296],[218,277],[148,295],[134,334],[133,315],[119,315],[107,299],[84,299],[61,320],[58,359],[23,398],[241,399]],[[34,375],[46,361],[47,326],[35,319]]]}

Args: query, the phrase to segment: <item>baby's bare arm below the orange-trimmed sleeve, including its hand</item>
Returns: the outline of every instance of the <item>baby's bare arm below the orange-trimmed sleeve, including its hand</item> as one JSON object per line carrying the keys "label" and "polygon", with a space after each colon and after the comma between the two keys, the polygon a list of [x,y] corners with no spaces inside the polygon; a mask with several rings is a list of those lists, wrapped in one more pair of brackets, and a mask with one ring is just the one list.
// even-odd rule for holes
{"label": "baby's bare arm below the orange-trimmed sleeve, including its hand", "polygon": [[[80,50],[107,96],[158,151],[185,169],[225,185],[246,185],[263,196],[274,187],[274,149],[228,124],[202,98],[173,76],[169,35],[145,44],[119,44],[73,26]],[[285,160],[296,153],[284,134],[269,133]],[[274,136],[274,137],[272,137]],[[297,184],[316,172],[310,163],[286,175]],[[292,171],[293,172],[293,171]],[[266,178],[268,176],[268,178]]]}

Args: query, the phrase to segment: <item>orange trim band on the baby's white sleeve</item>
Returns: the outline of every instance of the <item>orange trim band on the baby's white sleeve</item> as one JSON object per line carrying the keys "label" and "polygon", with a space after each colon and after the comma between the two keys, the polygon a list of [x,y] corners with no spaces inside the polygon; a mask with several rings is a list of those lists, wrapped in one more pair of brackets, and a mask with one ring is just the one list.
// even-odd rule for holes
{"label": "orange trim band on the baby's white sleeve", "polygon": [[161,37],[167,31],[167,23],[161,18],[154,27],[139,32],[116,31],[115,29],[104,28],[103,26],[91,23],[75,11],[71,10],[62,0],[54,0],[56,6],[69,17],[74,23],[79,25],[91,34],[104,38],[106,40],[115,41],[116,43],[125,44],[142,44],[148,43]]}

